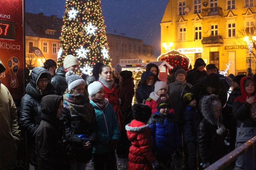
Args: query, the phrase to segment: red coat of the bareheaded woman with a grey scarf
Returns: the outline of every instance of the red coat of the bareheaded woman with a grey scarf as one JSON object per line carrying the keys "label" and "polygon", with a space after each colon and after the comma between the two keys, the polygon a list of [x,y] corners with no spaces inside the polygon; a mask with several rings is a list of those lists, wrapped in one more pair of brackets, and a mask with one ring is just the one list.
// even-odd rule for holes
{"label": "red coat of the bareheaded woman with a grey scarf", "polygon": [[[104,84],[102,85],[104,86]],[[112,89],[108,89],[106,86],[104,86],[104,91],[105,91],[104,92],[105,98],[108,99],[108,102],[112,105],[114,112],[117,116],[120,131],[125,130],[125,120],[124,120],[123,113],[120,109],[117,88],[114,85],[112,86]]]}

